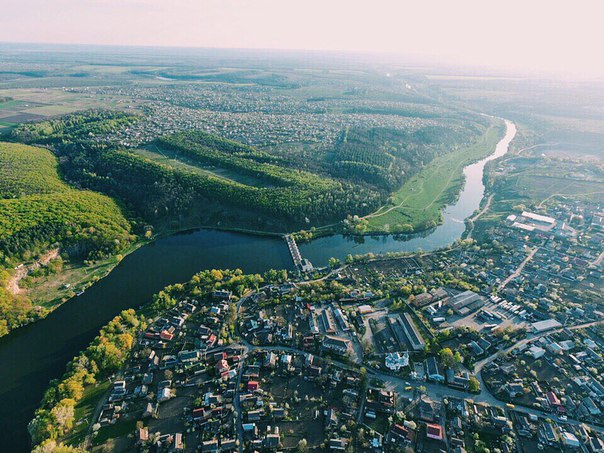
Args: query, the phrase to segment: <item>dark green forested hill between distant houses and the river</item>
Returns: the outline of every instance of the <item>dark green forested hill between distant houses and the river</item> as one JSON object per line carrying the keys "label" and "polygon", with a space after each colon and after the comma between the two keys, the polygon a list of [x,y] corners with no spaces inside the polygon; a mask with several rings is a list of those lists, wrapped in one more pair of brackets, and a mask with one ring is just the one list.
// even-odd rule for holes
{"label": "dark green forested hill between distant houses and the river", "polygon": [[375,211],[436,155],[480,133],[480,125],[459,120],[409,130],[345,128],[312,157],[201,130],[150,134],[139,148],[116,139],[145,121],[91,110],[22,124],[11,139],[52,147],[67,180],[119,199],[148,223],[193,214],[201,225],[286,232]]}

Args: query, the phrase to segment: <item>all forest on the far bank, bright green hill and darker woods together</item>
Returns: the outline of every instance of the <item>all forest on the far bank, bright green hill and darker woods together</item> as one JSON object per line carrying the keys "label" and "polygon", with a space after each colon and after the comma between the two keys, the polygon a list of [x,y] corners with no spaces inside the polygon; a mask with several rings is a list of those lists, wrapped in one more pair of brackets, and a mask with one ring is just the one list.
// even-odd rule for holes
{"label": "all forest on the far bank, bright green hill and darker woods together", "polygon": [[[172,226],[195,213],[193,226],[218,219],[227,227],[250,228],[257,222],[262,231],[367,215],[427,162],[447,155],[448,144],[471,142],[485,127],[472,122],[412,132],[347,127],[333,152],[300,170],[289,150],[269,152],[200,130],[160,136],[134,148],[115,138],[142,120],[121,111],[88,110],[23,123],[8,136],[44,146],[56,157],[48,149],[4,145],[0,334],[46,314],[26,296],[11,294],[7,285],[11,265],[50,248],[58,246],[66,258],[102,260],[123,252],[135,239],[132,233],[150,234],[147,225]],[[9,172],[13,167],[17,171]]]}

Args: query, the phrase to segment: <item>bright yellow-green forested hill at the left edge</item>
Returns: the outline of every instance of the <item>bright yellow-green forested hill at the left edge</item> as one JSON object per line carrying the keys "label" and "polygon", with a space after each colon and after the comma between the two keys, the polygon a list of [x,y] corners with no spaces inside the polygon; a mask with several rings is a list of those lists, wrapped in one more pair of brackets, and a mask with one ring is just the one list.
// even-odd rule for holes
{"label": "bright yellow-green forested hill at the left edge", "polygon": [[71,258],[103,258],[133,240],[114,200],[70,187],[57,169],[47,149],[0,142],[0,335],[27,322],[32,310],[6,287],[8,269],[51,248]]}

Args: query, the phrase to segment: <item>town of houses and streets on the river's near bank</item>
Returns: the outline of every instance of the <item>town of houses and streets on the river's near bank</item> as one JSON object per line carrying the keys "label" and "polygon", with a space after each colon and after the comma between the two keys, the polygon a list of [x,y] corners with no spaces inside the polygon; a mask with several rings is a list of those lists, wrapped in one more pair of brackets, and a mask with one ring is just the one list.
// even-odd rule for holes
{"label": "town of houses and streets on the river's near bank", "polygon": [[76,426],[93,451],[602,451],[604,314],[571,285],[601,291],[602,211],[550,214],[298,276],[203,272]]}

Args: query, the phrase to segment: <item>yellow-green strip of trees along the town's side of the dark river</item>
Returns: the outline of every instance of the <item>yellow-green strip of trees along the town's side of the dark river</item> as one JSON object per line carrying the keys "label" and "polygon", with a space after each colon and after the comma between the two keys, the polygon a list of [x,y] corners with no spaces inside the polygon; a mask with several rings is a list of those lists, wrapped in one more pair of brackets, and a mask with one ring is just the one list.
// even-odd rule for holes
{"label": "yellow-green strip of trees along the town's side of the dark river", "polygon": [[[105,379],[124,366],[131,356],[137,335],[149,321],[185,299],[210,300],[215,290],[232,291],[241,297],[265,283],[287,280],[286,271],[269,270],[264,275],[244,274],[241,270],[206,270],[188,282],[170,285],[153,296],[144,309],[122,311],[103,326],[91,344],[76,356],[60,378],[53,380],[29,424],[34,451],[84,451],[78,445],[88,434],[89,425],[81,421],[91,415],[102,393]],[[227,322],[220,333],[227,344],[235,335],[235,303],[231,302]],[[99,393],[99,391],[101,393]],[[67,444],[67,445],[64,445]]]}

